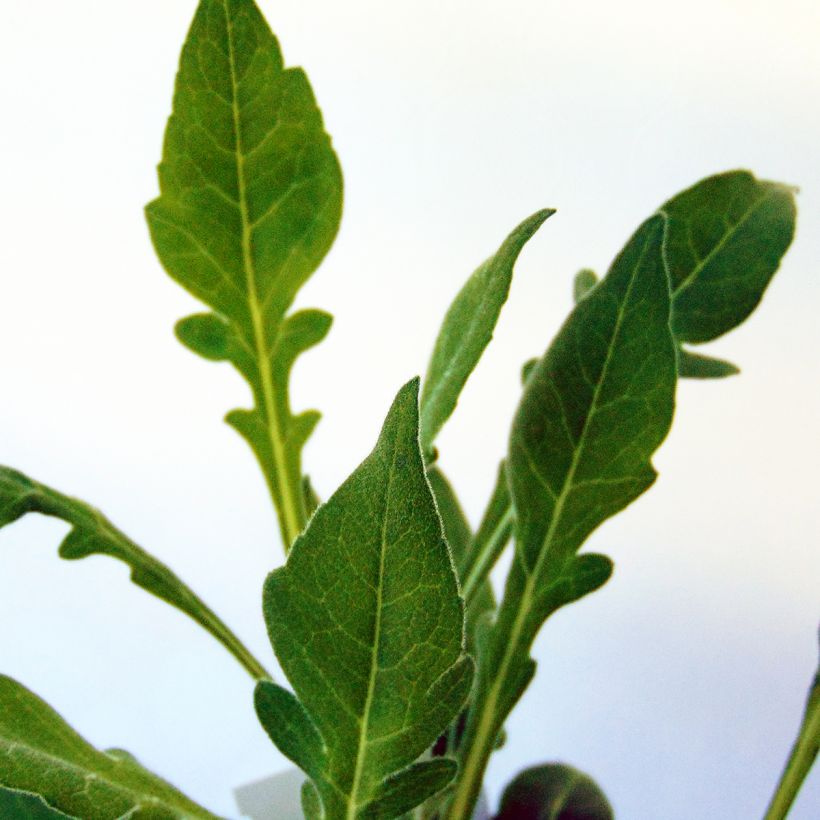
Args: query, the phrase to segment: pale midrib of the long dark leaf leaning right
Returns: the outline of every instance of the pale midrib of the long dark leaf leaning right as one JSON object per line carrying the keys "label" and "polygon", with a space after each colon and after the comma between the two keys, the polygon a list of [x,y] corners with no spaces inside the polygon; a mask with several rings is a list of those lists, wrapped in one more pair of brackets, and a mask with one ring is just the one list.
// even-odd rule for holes
{"label": "pale midrib of the long dark leaf leaning right", "polygon": [[[541,550],[538,555],[538,560],[535,562],[535,567],[532,569],[532,571],[529,571],[527,569],[526,563],[522,561],[522,567],[524,568],[524,571],[527,572],[527,581],[524,585],[524,590],[521,594],[521,598],[519,599],[519,604],[515,614],[515,620],[513,621],[512,629],[510,630],[510,634],[506,641],[504,657],[502,658],[501,664],[498,667],[498,672],[493,678],[493,684],[490,687],[487,699],[484,701],[484,704],[482,706],[481,719],[478,728],[476,729],[475,741],[470,748],[470,751],[467,755],[467,759],[464,762],[465,774],[461,782],[466,783],[468,785],[468,789],[470,788],[470,782],[472,778],[476,776],[479,767],[481,766],[484,760],[484,750],[489,740],[489,734],[493,728],[493,723],[496,716],[496,707],[498,705],[498,699],[501,695],[501,692],[506,686],[507,675],[509,673],[512,661],[518,654],[518,641],[521,637],[521,632],[524,629],[524,623],[527,619],[527,615],[529,615],[530,612],[533,593],[535,591],[535,585],[538,581],[538,576],[541,570],[543,569],[547,555],[549,554],[550,549],[552,547],[552,541],[555,537],[555,533],[558,529],[559,524],[561,523],[561,516],[563,514],[564,504],[566,502],[567,497],[569,496],[570,491],[572,490],[573,481],[575,479],[575,473],[578,469],[581,453],[586,443],[586,436],[587,432],[589,431],[590,422],[592,420],[592,417],[595,415],[597,409],[598,397],[601,392],[601,386],[606,381],[610,362],[612,361],[612,351],[615,348],[615,343],[618,339],[618,335],[621,330],[621,324],[623,323],[624,314],[626,312],[625,305],[629,301],[629,297],[632,293],[632,288],[635,284],[635,279],[637,278],[637,271],[640,269],[640,266],[643,263],[645,255],[646,246],[644,246],[644,248],[641,250],[641,254],[633,269],[633,274],[630,277],[626,293],[624,294],[624,299],[621,303],[621,308],[618,311],[618,317],[615,321],[615,329],[612,333],[612,340],[607,348],[606,358],[604,359],[604,365],[601,369],[601,375],[592,393],[592,400],[590,401],[590,410],[587,414],[586,419],[584,420],[584,426],[581,429],[581,435],[578,438],[578,444],[576,445],[575,450],[573,452],[572,461],[570,463],[569,470],[567,471],[566,478],[564,479],[564,482],[561,485],[561,492],[559,493],[558,498],[556,499],[555,507],[553,508],[553,515],[550,519],[550,525],[547,528],[547,534],[544,536],[544,540],[541,544]],[[462,790],[456,793],[455,801],[450,807],[450,812],[448,812],[448,817],[451,818],[451,820],[460,820],[462,816],[466,815],[466,804],[470,797],[471,791]]]}

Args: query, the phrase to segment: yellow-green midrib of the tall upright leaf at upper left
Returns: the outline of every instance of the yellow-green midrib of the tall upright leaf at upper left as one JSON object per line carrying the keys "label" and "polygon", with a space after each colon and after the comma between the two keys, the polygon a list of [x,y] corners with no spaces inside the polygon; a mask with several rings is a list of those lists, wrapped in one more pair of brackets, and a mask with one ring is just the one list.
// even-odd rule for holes
{"label": "yellow-green midrib of the tall upright leaf at upper left", "polygon": [[[291,476],[288,471],[283,431],[276,413],[273,380],[270,373],[270,362],[265,343],[265,325],[259,304],[259,295],[256,287],[256,268],[251,251],[251,220],[248,215],[247,187],[245,183],[245,156],[242,153],[242,117],[239,110],[239,84],[236,73],[236,60],[233,47],[233,23],[227,0],[223,0],[222,8],[225,12],[225,27],[228,40],[228,62],[231,72],[231,108],[233,110],[234,151],[236,155],[237,185],[239,189],[239,213],[242,220],[242,263],[245,269],[245,281],[248,289],[248,305],[250,307],[251,323],[253,325],[254,346],[256,348],[256,362],[259,370],[259,379],[262,385],[262,408],[267,422],[266,428],[273,453],[276,475],[271,479],[275,482],[278,477],[278,489],[281,496],[283,529],[285,530],[285,552],[290,550],[291,544],[302,531],[302,521],[299,514],[301,505],[294,496],[291,486]],[[274,505],[277,499],[274,496]]]}

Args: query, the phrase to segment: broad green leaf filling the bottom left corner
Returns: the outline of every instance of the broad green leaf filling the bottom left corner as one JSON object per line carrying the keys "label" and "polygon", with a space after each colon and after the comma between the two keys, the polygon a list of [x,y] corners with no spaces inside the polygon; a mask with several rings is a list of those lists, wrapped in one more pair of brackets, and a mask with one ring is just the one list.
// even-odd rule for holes
{"label": "broad green leaf filling the bottom left corner", "polygon": [[215,817],[129,757],[95,749],[47,703],[5,675],[0,786],[41,795],[48,806],[83,820]]}

